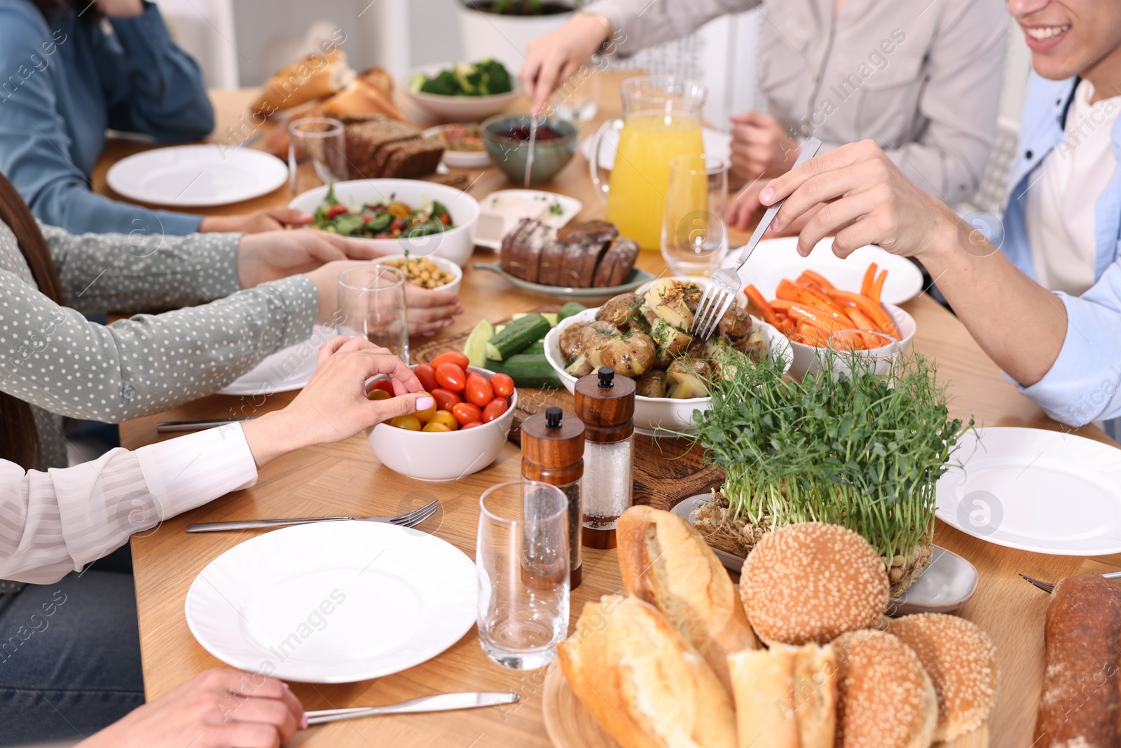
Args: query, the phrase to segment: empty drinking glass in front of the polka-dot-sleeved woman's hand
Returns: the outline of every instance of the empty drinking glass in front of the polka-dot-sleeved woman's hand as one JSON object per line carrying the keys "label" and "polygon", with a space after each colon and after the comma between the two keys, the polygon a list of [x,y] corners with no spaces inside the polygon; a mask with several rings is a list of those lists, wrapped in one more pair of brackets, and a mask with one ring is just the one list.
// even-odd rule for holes
{"label": "empty drinking glass in front of the polka-dot-sleeved woman's hand", "polygon": [[340,335],[362,335],[409,362],[409,325],[405,312],[405,276],[374,265],[339,274]]}

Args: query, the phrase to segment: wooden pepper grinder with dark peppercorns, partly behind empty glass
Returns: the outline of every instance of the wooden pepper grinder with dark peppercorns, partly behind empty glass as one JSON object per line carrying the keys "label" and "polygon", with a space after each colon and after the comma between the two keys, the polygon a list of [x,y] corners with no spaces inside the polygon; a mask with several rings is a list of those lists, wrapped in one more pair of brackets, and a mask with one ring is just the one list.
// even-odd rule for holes
{"label": "wooden pepper grinder with dark peppercorns, partly behind empty glass", "polygon": [[556,486],[568,497],[568,587],[582,581],[580,526],[581,478],[584,474],[584,424],[564,417],[558,407],[546,408],[521,424],[521,474]]}

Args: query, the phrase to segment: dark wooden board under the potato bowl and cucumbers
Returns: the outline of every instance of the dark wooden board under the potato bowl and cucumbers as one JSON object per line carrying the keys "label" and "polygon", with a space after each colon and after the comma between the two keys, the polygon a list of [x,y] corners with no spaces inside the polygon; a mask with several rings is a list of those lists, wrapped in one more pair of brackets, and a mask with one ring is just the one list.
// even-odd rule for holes
{"label": "dark wooden board under the potato bowl and cucumbers", "polygon": [[[557,305],[538,306],[528,312],[556,312]],[[509,322],[506,320],[503,322]],[[502,323],[498,323],[502,324]],[[420,344],[409,351],[416,363],[426,363],[445,351],[458,351],[470,333]],[[518,388],[518,407],[515,412],[510,440],[520,443],[522,421],[549,406],[573,413],[574,403],[568,390]],[[723,481],[722,471],[707,467],[704,450],[689,440],[634,435],[634,504],[658,509],[673,509],[679,501],[697,493],[707,493]]]}

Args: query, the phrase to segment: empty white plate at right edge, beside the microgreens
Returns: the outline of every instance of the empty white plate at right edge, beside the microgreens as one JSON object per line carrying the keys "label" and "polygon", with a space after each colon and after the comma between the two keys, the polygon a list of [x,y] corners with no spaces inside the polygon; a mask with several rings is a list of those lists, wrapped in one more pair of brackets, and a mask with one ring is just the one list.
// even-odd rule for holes
{"label": "empty white plate at right edge, beside the microgreens", "polygon": [[1121,450],[1041,428],[967,433],[938,480],[938,519],[997,545],[1121,553]]}

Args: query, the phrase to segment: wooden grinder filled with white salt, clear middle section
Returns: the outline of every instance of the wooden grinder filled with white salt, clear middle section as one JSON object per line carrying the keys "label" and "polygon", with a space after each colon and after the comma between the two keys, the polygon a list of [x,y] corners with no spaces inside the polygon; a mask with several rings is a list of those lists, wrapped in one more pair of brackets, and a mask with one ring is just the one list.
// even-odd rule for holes
{"label": "wooden grinder filled with white salt, clear middle section", "polygon": [[615,525],[631,505],[634,471],[634,381],[611,367],[576,381],[576,415],[584,422],[583,542],[615,547]]}

